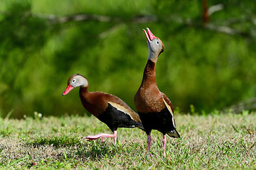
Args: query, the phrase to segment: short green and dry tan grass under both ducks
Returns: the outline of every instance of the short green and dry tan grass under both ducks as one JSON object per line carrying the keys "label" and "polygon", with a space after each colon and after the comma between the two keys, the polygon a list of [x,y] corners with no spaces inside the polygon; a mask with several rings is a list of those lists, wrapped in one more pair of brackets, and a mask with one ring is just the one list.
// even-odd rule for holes
{"label": "short green and dry tan grass under both ducks", "polygon": [[110,130],[95,117],[0,119],[1,169],[256,169],[256,114],[178,115],[180,139],[120,128],[112,139],[80,137]]}

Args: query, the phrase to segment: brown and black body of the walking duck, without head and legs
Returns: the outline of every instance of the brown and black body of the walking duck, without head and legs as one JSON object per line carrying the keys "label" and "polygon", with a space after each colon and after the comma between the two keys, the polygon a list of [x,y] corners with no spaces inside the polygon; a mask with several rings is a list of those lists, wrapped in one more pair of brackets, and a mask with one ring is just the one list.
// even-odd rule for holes
{"label": "brown and black body of the walking duck, without head and legs", "polygon": [[105,123],[110,130],[117,128],[144,129],[139,115],[120,98],[100,91],[80,93],[82,105],[87,111]]}

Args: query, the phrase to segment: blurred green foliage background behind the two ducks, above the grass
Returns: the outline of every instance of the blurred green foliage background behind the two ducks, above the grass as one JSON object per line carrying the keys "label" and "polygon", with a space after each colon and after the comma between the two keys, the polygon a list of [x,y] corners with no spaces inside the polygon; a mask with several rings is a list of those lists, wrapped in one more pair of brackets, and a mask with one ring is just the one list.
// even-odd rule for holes
{"label": "blurred green foliage background behind the two ducks, above the grass", "polygon": [[1,117],[85,114],[78,89],[62,96],[76,73],[90,91],[119,96],[136,110],[146,27],[164,42],[156,81],[176,110],[210,113],[253,98],[255,2],[205,7],[199,0],[1,0]]}

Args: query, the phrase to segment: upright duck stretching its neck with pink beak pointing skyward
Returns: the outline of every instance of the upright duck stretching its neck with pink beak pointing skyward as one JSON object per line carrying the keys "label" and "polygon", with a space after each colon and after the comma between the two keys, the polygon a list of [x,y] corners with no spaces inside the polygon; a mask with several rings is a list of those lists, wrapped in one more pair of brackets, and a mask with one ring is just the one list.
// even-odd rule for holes
{"label": "upright duck stretching its neck with pink beak pointing skyward", "polygon": [[166,133],[170,137],[180,137],[180,135],[175,128],[174,106],[169,98],[159,91],[156,85],[155,66],[159,55],[164,51],[164,43],[156,38],[149,28],[146,28],[146,30],[144,30],[144,33],[149,46],[149,58],[144,69],[142,84],[134,96],[134,102],[147,135],[148,148],[146,154],[149,154],[151,145],[151,130],[159,130],[164,135],[165,157]]}

